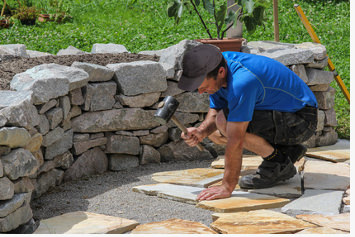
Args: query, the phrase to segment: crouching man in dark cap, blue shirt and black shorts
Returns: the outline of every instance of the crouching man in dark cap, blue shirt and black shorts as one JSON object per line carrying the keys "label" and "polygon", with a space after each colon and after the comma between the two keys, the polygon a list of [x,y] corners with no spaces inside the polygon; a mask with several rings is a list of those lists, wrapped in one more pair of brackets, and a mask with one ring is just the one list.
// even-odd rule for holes
{"label": "crouching man in dark cap, blue shirt and black shorts", "polygon": [[306,152],[301,145],[315,132],[317,101],[308,86],[281,63],[258,55],[224,52],[199,45],[183,58],[180,89],[210,94],[210,109],[198,128],[181,137],[195,146],[205,137],[226,144],[222,185],[203,190],[199,200],[227,198],[238,184],[243,149],[263,157],[241,188],[266,188],[296,174]]}

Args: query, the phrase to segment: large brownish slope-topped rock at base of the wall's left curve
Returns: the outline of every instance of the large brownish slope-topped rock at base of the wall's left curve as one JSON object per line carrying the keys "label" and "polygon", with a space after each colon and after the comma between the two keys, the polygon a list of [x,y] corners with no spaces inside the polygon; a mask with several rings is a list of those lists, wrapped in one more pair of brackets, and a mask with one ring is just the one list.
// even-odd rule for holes
{"label": "large brownish slope-topped rock at base of the wall's left curve", "polygon": [[95,147],[84,152],[74,164],[65,171],[64,181],[77,180],[84,176],[102,174],[107,170],[108,161],[106,154]]}

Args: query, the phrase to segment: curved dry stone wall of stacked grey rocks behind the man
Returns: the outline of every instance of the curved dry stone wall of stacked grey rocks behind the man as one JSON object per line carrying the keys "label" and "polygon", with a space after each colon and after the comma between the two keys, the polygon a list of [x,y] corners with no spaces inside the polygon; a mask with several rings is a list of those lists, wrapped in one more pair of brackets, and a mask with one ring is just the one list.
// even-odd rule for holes
{"label": "curved dry stone wall of stacked grey rocks behind the man", "polygon": [[[166,49],[141,52],[158,55],[159,62],[43,64],[17,74],[12,90],[0,91],[0,232],[33,223],[31,198],[62,182],[147,163],[222,154],[224,147],[208,139],[203,152],[188,147],[172,122],[160,125],[153,117],[157,104],[172,95],[180,102],[175,115],[183,124],[198,126],[203,121],[208,95],[177,87],[184,52],[198,44],[184,40]],[[127,52],[122,45],[96,44],[91,53],[112,48]],[[322,70],[326,66],[323,46],[250,42],[243,51],[279,60],[315,92],[319,124],[308,146],[336,142],[334,89],[329,87],[333,77]],[[58,54],[81,53],[86,52],[69,47]],[[26,51],[24,45],[2,45],[0,54],[45,55]]]}

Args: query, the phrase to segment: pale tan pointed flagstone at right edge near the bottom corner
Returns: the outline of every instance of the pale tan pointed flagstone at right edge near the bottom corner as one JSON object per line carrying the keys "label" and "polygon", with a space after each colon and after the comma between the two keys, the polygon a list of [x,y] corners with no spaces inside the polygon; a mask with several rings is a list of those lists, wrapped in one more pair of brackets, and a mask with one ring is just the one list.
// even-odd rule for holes
{"label": "pale tan pointed flagstone at right edge near the bottom corner", "polygon": [[319,226],[350,231],[350,213],[342,213],[338,215],[304,214],[297,215],[296,218]]}

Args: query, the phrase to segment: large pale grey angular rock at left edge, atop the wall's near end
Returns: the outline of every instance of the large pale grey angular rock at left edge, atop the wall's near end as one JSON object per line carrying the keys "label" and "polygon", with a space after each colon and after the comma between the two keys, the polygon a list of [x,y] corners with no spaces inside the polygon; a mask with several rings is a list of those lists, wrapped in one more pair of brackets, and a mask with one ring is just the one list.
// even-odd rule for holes
{"label": "large pale grey angular rock at left edge, atop the wall's near end", "polygon": [[28,129],[38,125],[39,116],[31,96],[31,91],[0,91],[0,120],[6,120],[1,123]]}

